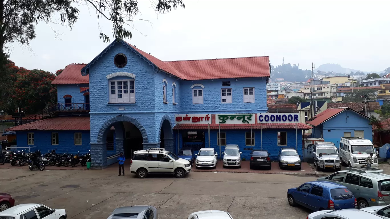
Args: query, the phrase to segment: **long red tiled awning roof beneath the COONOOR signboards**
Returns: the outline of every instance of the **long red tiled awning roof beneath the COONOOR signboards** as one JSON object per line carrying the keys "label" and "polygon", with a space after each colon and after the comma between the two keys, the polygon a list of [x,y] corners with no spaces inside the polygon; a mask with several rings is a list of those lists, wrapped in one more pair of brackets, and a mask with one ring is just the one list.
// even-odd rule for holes
{"label": "long red tiled awning roof beneath the COONOOR signboards", "polygon": [[[256,114],[257,117],[257,114]],[[256,118],[257,119],[257,118]],[[312,129],[312,127],[297,123],[297,129]],[[208,129],[208,124],[180,124],[179,129]],[[173,129],[177,130],[177,125]],[[215,124],[215,114],[211,115],[210,129],[218,130],[219,125]],[[250,129],[250,124],[221,124],[221,129]],[[295,129],[295,123],[256,123],[252,129]]]}

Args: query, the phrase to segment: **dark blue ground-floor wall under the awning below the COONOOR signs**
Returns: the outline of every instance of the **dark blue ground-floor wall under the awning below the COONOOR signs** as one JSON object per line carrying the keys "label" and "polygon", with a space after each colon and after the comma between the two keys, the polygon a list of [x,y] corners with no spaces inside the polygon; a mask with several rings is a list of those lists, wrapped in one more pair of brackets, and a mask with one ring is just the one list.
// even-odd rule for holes
{"label": "dark blue ground-floor wall under the awning below the COONOOR signs", "polygon": [[[188,130],[184,130],[184,132],[187,132]],[[287,146],[278,146],[277,143],[277,132],[287,132]],[[298,154],[302,155],[302,130],[298,129]],[[205,132],[205,147],[208,147],[208,133],[207,130],[204,130]],[[218,138],[217,138],[217,132],[218,130],[210,130],[210,147],[215,148],[216,152],[218,153],[218,158],[220,158],[220,146],[217,145]],[[245,132],[250,132],[250,130],[240,129],[240,130],[221,130],[221,132],[226,132],[226,143],[227,144],[234,144],[239,145],[240,151],[243,152],[241,154],[242,158],[245,158],[246,160],[250,159],[250,150],[244,150],[244,148],[251,148],[251,146],[245,145]],[[296,148],[296,132],[295,129],[264,129],[262,130],[262,138],[261,138],[261,132],[260,130],[252,130],[252,132],[255,133],[255,146],[253,149],[261,149],[261,139],[262,139],[262,146],[263,150],[268,150],[268,153],[271,154],[272,160],[278,159],[278,152],[281,147],[292,147]],[[177,148],[177,131],[174,132],[175,136],[175,148]],[[181,133],[179,135],[179,141],[180,143],[183,142],[183,139],[181,137]],[[177,149],[175,149],[177,150]],[[225,146],[221,146],[221,152],[225,150]],[[196,154],[196,153],[195,153]]]}

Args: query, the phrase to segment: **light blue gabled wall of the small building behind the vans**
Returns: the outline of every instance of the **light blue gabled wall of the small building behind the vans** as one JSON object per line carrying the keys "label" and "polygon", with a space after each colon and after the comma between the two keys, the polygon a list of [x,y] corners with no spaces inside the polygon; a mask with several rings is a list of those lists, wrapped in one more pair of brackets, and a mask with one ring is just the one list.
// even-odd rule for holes
{"label": "light blue gabled wall of the small building behind the vans", "polygon": [[369,119],[358,113],[346,110],[315,127],[313,129],[314,138],[320,138],[322,132],[325,141],[332,141],[338,147],[340,145],[340,138],[344,136],[344,132],[351,132],[351,136],[355,136],[355,130],[357,130],[364,131],[364,138],[372,142],[372,126],[369,122]]}

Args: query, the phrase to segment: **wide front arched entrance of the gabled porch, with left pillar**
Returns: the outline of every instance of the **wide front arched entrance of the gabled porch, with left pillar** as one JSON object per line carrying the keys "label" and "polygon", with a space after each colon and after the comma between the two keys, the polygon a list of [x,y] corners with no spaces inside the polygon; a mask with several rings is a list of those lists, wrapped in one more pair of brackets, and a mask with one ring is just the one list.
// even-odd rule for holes
{"label": "wide front arched entrance of the gabled porch, with left pillar", "polygon": [[123,152],[130,158],[135,150],[142,150],[148,143],[145,128],[137,119],[118,115],[107,120],[97,133],[96,143],[91,143],[92,167],[105,167],[107,157]]}

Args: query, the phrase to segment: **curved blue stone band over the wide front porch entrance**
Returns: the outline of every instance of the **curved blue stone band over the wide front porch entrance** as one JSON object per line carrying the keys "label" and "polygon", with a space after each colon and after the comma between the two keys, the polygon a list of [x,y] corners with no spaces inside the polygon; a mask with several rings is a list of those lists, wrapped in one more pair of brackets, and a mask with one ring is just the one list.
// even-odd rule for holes
{"label": "curved blue stone band over the wide front porch entrance", "polygon": [[103,143],[103,136],[108,128],[110,128],[114,123],[116,122],[131,122],[135,127],[140,130],[142,134],[142,139],[144,140],[144,143],[148,143],[149,139],[147,137],[147,132],[144,126],[141,125],[140,122],[138,122],[137,119],[133,117],[129,117],[126,115],[116,116],[112,117],[109,120],[107,120],[100,128],[99,132],[97,132],[97,143]]}

